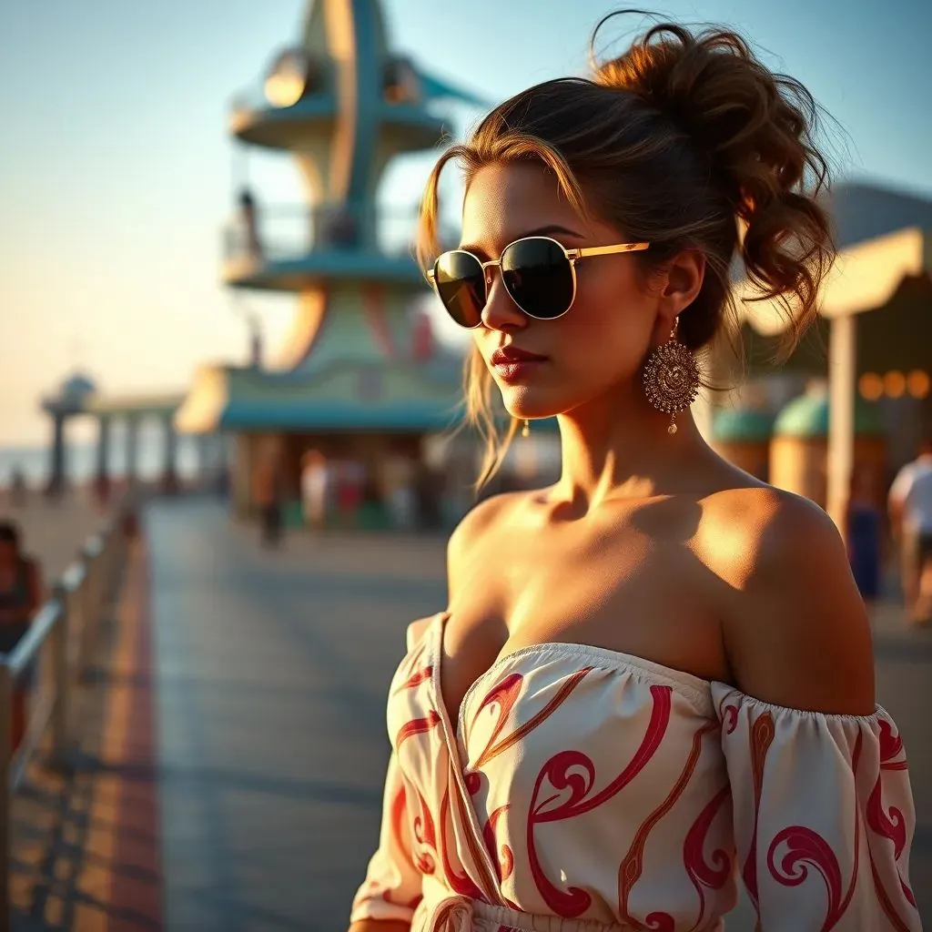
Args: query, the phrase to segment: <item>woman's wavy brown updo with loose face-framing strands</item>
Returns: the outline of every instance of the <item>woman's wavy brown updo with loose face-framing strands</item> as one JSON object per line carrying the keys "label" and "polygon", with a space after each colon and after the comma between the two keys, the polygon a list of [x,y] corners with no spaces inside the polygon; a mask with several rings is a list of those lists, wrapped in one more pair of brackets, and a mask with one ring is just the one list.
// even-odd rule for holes
{"label": "woman's wavy brown updo with loose face-framing strands", "polygon": [[[637,13],[640,10],[622,10]],[[596,26],[596,34],[612,13]],[[591,78],[544,81],[501,103],[465,144],[434,167],[420,209],[418,259],[437,246],[437,184],[459,159],[467,188],[483,166],[536,159],[583,216],[651,248],[632,254],[645,276],[685,249],[706,256],[702,289],[679,315],[678,338],[703,349],[734,313],[739,254],[751,298],[777,298],[787,322],[781,355],[816,317],[819,282],[834,258],[817,198],[829,168],[814,136],[819,108],[802,85],[772,73],[738,34],[654,25]],[[517,428],[500,435],[493,381],[473,348],[466,365],[467,422],[486,441],[476,487],[499,469]]]}

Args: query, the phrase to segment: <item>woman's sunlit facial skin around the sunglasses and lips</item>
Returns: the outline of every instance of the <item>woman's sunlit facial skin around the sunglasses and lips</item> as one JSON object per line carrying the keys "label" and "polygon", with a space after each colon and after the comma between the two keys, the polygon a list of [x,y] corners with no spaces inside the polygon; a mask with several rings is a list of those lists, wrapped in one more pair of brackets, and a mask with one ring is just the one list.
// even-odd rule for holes
{"label": "woman's sunlit facial skin around the sunglasses and lips", "polygon": [[[552,174],[535,164],[492,165],[473,177],[463,205],[462,248],[483,261],[498,259],[510,242],[550,236],[572,249],[625,242],[624,234],[584,221],[561,195]],[[585,257],[576,264],[576,298],[554,321],[521,312],[497,268],[473,331],[476,348],[514,418],[545,418],[571,411],[637,376],[658,327],[659,302],[645,286],[631,254]],[[543,357],[521,366],[492,363],[500,347]]]}

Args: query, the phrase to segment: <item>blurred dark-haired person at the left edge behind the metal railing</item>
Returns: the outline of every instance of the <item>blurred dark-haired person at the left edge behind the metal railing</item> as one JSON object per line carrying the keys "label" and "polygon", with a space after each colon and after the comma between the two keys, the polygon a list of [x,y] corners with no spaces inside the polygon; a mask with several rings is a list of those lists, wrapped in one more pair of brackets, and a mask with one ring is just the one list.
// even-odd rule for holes
{"label": "blurred dark-haired person at the left edge behind the metal railing", "polygon": [[[12,652],[33,623],[42,605],[42,571],[38,561],[22,550],[20,529],[12,521],[0,521],[0,653]],[[26,699],[32,671],[13,691],[10,748],[16,751],[26,733]]]}

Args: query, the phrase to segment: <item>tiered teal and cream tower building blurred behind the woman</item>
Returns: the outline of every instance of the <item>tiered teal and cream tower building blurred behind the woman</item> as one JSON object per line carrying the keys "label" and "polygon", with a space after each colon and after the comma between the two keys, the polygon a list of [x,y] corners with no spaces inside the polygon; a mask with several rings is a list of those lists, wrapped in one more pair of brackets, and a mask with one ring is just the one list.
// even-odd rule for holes
{"label": "tiered teal and cream tower building blurred behind the woman", "polygon": [[[417,208],[377,208],[393,158],[449,135],[450,103],[472,93],[389,48],[378,0],[308,4],[300,43],[275,56],[260,95],[229,117],[244,144],[295,159],[306,203],[265,209],[240,198],[226,230],[232,289],[297,295],[291,334],[273,367],[202,367],[181,405],[182,432],[231,435],[231,493],[251,514],[257,475],[276,464],[285,497],[300,497],[308,454],[364,474],[369,498],[417,483],[425,442],[459,418],[462,360],[416,311],[427,287],[412,254]],[[357,499],[359,496],[357,495]]]}

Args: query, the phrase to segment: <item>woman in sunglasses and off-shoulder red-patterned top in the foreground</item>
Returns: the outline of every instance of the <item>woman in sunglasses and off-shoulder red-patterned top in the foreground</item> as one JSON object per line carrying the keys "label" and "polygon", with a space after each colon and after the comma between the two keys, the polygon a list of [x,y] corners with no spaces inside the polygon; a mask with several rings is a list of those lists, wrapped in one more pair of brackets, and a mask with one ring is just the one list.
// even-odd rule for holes
{"label": "woman in sunglasses and off-shoulder red-patterned top in the foreground", "polygon": [[[431,278],[492,390],[557,416],[553,487],[483,501],[389,693],[353,932],[918,929],[911,791],[843,541],[688,405],[740,255],[798,335],[829,267],[816,107],[729,32],[650,30],[494,110]],[[483,480],[500,463],[494,433]]]}

